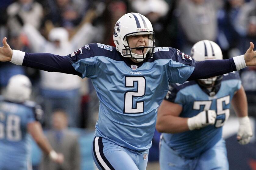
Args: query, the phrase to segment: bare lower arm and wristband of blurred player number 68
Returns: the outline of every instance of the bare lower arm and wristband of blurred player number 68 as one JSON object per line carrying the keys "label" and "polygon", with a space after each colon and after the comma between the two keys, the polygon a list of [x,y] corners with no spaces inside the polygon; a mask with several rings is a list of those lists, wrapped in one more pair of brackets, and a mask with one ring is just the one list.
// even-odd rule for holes
{"label": "bare lower arm and wristband of blurred player number 68", "polygon": [[31,122],[27,125],[28,132],[36,141],[37,145],[42,149],[42,151],[49,155],[52,161],[56,163],[62,163],[64,161],[64,157],[60,153],[56,153],[52,146],[50,145],[47,138],[44,136],[41,124],[38,121]]}

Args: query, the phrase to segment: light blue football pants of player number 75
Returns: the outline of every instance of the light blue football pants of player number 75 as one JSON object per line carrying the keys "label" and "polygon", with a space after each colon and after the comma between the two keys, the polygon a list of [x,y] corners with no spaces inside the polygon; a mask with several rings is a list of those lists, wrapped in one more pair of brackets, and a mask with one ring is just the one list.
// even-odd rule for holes
{"label": "light blue football pants of player number 75", "polygon": [[185,158],[170,148],[162,139],[159,163],[161,170],[228,170],[225,140],[221,138],[212,148],[195,158]]}

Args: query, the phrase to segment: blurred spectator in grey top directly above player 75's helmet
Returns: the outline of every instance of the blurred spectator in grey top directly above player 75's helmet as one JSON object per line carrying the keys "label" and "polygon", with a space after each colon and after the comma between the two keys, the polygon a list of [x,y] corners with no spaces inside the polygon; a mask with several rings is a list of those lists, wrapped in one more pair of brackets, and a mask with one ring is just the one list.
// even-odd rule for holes
{"label": "blurred spectator in grey top directly above player 75's helmet", "polygon": [[222,7],[221,0],[180,0],[178,2],[178,20],[184,34],[184,53],[190,53],[194,43],[208,39],[217,40],[217,11]]}

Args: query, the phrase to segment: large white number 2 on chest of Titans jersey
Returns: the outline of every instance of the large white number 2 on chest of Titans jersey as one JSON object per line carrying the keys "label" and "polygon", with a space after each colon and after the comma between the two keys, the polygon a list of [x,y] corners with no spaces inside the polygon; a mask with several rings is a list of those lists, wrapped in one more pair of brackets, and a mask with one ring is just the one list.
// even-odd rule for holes
{"label": "large white number 2 on chest of Titans jersey", "polygon": [[133,107],[133,98],[145,95],[146,79],[143,76],[125,77],[125,87],[135,87],[135,83],[137,83],[137,91],[126,91],[124,94],[123,113],[136,114],[144,112],[144,101],[137,101],[135,107]]}

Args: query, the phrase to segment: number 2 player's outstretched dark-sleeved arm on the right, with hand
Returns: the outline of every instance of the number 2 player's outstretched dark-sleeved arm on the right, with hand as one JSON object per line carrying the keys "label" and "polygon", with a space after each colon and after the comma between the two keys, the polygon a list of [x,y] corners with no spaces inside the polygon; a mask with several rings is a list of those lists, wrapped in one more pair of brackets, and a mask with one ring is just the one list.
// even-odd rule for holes
{"label": "number 2 player's outstretched dark-sleeved arm on the right, with hand", "polygon": [[219,76],[240,70],[246,66],[255,66],[256,51],[253,51],[253,48],[254,44],[250,42],[250,47],[244,55],[236,56],[227,60],[205,60],[197,62],[193,73],[187,81]]}

